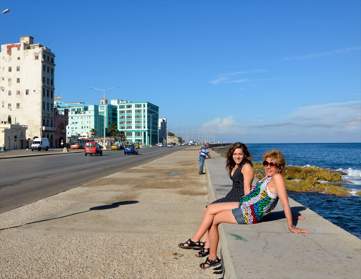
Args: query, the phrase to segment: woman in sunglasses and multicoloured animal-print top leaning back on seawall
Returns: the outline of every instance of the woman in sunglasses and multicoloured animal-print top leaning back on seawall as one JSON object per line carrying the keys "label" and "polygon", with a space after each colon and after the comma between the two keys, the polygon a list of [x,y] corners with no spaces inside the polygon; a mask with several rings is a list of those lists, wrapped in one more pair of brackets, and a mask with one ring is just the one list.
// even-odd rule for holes
{"label": "woman in sunglasses and multicoloured animal-print top leaning back on seawall", "polygon": [[223,202],[211,204],[206,209],[202,222],[196,234],[190,239],[197,242],[206,230],[208,231],[208,242],[210,245],[209,256],[200,267],[206,269],[217,266],[221,260],[217,257],[218,225],[220,223],[231,224],[256,224],[270,213],[280,200],[286,215],[288,230],[298,234],[299,232],[309,234],[310,231],[296,228],[293,219],[305,219],[302,216],[293,217],[288,204],[286,184],[281,174],[286,160],[283,154],[277,150],[267,151],[262,159],[266,176],[259,180],[248,195],[242,197],[240,202]]}

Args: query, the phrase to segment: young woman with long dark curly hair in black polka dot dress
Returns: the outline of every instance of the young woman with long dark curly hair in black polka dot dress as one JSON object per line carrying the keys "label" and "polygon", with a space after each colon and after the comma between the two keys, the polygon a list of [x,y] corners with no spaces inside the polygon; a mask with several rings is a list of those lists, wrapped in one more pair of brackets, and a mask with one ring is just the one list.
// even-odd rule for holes
{"label": "young woman with long dark curly hair in black polka dot dress", "polygon": [[[218,199],[212,204],[218,202],[239,202],[240,197],[247,195],[251,191],[251,184],[254,177],[254,170],[252,167],[252,155],[249,153],[248,148],[243,143],[233,144],[227,152],[226,169],[228,170],[229,177],[232,180],[231,191],[223,198]],[[206,207],[204,208],[204,212]],[[178,247],[185,249],[201,249],[196,256],[205,257],[209,254],[209,245],[206,243],[208,232],[203,236],[203,241],[192,243],[188,240],[186,243],[181,243]]]}

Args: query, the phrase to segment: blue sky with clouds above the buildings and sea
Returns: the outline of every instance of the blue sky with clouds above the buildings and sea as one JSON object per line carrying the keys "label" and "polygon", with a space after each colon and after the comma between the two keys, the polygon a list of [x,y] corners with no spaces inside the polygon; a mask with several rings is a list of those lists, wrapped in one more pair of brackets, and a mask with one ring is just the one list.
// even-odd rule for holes
{"label": "blue sky with clouds above the buildings and sea", "polygon": [[[361,141],[361,1],[0,1],[62,101],[149,101],[216,141]],[[173,122],[172,122],[173,120]],[[187,126],[186,126],[187,125]]]}

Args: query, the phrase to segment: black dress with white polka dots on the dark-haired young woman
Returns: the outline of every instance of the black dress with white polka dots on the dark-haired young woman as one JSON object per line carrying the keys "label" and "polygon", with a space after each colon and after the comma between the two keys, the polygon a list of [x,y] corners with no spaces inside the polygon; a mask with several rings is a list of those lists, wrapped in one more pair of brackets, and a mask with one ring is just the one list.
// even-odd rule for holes
{"label": "black dress with white polka dots on the dark-haired young woman", "polygon": [[[212,204],[217,204],[218,202],[239,202],[239,198],[244,196],[244,181],[243,181],[243,174],[242,174],[242,167],[244,164],[250,164],[248,161],[243,161],[239,167],[235,170],[233,176],[229,175],[229,178],[232,180],[232,189],[229,191],[227,196],[212,202]],[[252,166],[253,167],[253,166]],[[233,170],[233,168],[232,168]]]}

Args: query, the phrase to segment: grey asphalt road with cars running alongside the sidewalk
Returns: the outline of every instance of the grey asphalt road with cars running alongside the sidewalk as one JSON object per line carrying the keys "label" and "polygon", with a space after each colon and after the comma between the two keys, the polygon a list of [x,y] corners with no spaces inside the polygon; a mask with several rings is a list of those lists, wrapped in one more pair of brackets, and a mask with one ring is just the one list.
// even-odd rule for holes
{"label": "grey asphalt road with cars running alongside the sidewalk", "polygon": [[0,161],[0,213],[56,195],[186,147],[140,148],[139,155],[67,153]]}

